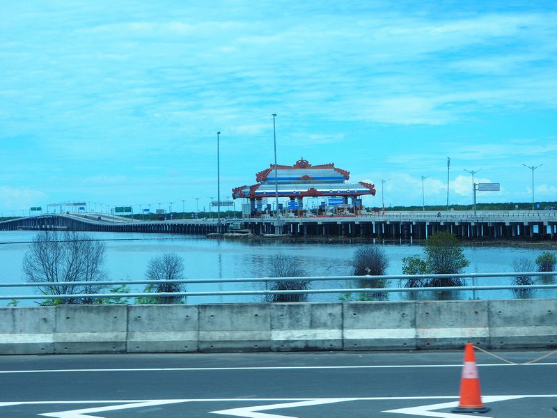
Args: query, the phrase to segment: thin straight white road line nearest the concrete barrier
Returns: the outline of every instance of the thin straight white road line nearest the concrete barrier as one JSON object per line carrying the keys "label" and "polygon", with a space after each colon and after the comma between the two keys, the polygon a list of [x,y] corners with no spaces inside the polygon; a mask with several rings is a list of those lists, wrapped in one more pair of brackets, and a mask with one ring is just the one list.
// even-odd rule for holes
{"label": "thin straight white road line nearest the concrete barrier", "polygon": [[[516,364],[478,364],[478,367],[515,367]],[[532,363],[525,366],[557,366],[557,363]],[[273,367],[164,367],[143,369],[47,369],[47,370],[2,370],[0,374],[10,373],[91,373],[116,371],[235,371],[235,370],[327,370],[327,369],[420,369],[436,367],[462,367],[461,364],[392,364],[377,366],[273,366]]]}

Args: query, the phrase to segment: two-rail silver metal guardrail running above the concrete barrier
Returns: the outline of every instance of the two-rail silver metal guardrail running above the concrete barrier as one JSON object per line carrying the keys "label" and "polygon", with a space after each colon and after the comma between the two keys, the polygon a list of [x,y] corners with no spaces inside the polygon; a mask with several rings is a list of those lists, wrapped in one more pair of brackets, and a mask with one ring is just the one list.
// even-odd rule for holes
{"label": "two-rail silver metal guardrail running above the concrete barrier", "polygon": [[[332,276],[332,277],[258,277],[240,279],[182,279],[182,280],[117,280],[117,281],[65,281],[56,283],[0,283],[0,288],[8,287],[62,287],[62,286],[93,286],[93,285],[130,285],[130,284],[196,284],[196,283],[254,283],[263,284],[276,281],[359,281],[359,280],[407,280],[407,279],[487,279],[492,277],[552,277],[557,272],[504,272],[504,273],[462,273],[462,274],[398,274],[391,276]],[[444,286],[421,288],[331,288],[331,289],[306,289],[306,290],[281,290],[281,291],[210,291],[210,292],[159,292],[159,293],[75,293],[64,295],[0,295],[0,300],[47,300],[47,299],[72,299],[87,297],[91,299],[127,298],[127,297],[154,297],[154,296],[219,296],[219,295],[274,295],[274,294],[315,294],[315,293],[404,293],[404,292],[439,292],[439,291],[490,291],[490,290],[528,290],[528,289],[557,289],[557,284],[532,284],[532,285],[489,285],[489,286]],[[557,297],[557,294],[556,294]]]}

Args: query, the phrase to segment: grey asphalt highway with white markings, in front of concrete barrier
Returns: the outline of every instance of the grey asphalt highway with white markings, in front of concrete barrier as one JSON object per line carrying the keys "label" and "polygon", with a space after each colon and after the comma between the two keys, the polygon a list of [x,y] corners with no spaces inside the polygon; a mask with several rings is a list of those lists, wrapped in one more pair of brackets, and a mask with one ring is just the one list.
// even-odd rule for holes
{"label": "grey asphalt highway with white markings, in front of concrete barrier", "polygon": [[[544,351],[497,352],[524,362]],[[457,417],[460,351],[0,357],[0,417]],[[483,417],[557,417],[557,354],[477,354]],[[462,416],[462,415],[461,415]]]}

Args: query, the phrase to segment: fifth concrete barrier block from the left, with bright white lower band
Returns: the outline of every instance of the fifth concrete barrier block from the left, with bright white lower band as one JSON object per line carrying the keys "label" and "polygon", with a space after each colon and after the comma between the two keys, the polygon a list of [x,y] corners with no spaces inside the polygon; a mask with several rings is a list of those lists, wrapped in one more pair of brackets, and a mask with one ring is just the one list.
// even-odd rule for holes
{"label": "fifth concrete barrier block from the left, with bright white lower band", "polygon": [[342,349],[342,304],[277,303],[271,305],[271,350]]}

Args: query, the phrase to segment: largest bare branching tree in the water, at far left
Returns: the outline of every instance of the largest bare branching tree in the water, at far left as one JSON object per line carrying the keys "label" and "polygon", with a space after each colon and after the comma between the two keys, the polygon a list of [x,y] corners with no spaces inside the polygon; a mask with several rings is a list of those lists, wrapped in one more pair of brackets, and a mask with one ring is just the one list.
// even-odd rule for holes
{"label": "largest bare branching tree in the water, at far left", "polygon": [[[68,281],[102,281],[106,246],[91,235],[76,232],[38,233],[23,258],[23,273],[29,283],[59,283],[38,286],[45,295],[83,295],[99,293],[101,284],[70,285]],[[93,303],[91,297],[54,298],[45,304]]]}

